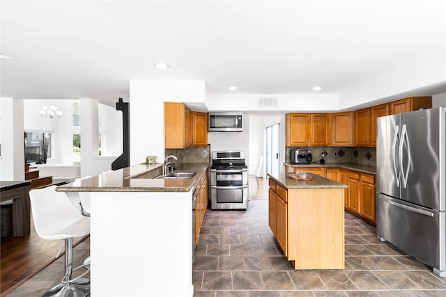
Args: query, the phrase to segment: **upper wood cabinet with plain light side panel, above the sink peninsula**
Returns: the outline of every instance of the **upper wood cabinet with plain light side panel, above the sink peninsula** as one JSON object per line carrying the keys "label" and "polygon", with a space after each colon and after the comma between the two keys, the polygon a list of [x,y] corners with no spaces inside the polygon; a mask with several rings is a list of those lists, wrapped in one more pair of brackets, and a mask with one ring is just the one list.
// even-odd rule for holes
{"label": "upper wood cabinet with plain light side panel, above the sink peninsula", "polygon": [[192,115],[183,103],[164,102],[164,147],[178,149],[192,143]]}

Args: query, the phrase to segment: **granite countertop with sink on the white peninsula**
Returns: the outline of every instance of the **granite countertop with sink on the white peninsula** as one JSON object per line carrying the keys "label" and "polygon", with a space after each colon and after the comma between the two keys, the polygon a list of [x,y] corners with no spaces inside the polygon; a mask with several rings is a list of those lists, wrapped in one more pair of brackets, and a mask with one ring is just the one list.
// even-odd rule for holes
{"label": "granite countertop with sink on the white peninsula", "polygon": [[82,179],[80,184],[58,186],[59,192],[188,192],[206,170],[209,163],[184,163],[174,172],[197,172],[192,179],[155,179],[153,173],[161,170],[162,163],[139,164],[103,172],[101,175]]}

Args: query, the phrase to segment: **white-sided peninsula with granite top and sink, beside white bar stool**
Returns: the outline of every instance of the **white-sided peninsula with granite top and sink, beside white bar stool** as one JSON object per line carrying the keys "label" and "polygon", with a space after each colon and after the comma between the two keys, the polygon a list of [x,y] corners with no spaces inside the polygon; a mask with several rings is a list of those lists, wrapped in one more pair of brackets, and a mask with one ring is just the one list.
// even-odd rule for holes
{"label": "white-sided peninsula with granite top and sink, beside white bar stool", "polygon": [[91,196],[91,296],[193,296],[192,193],[208,166],[155,179],[162,164],[140,164],[56,189]]}

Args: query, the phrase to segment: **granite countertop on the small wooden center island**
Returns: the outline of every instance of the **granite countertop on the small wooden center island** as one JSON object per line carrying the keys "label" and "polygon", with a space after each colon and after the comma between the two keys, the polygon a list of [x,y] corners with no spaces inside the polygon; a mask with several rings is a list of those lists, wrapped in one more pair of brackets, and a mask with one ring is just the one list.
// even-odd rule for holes
{"label": "granite countertop on the small wooden center island", "polygon": [[319,175],[312,175],[313,179],[309,181],[303,181],[298,179],[292,179],[289,177],[289,173],[268,173],[268,176],[283,186],[286,189],[293,188],[348,188],[346,184],[335,182],[332,179],[327,179]]}

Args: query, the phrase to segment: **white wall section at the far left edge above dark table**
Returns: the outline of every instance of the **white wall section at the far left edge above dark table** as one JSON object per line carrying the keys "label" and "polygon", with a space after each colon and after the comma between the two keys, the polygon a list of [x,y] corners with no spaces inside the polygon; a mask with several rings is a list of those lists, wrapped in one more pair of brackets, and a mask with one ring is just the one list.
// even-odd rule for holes
{"label": "white wall section at the far left edge above dark table", "polygon": [[0,180],[24,180],[23,100],[1,98],[0,120]]}

